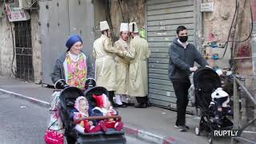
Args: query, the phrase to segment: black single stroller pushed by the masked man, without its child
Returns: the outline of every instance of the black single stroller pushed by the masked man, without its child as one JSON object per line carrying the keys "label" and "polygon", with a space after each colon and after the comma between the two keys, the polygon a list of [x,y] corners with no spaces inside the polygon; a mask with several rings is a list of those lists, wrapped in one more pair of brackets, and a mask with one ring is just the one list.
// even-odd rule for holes
{"label": "black single stroller pushed by the masked man, without its child", "polygon": [[195,134],[199,135],[206,131],[209,135],[209,142],[212,142],[213,130],[232,129],[233,122],[226,116],[222,116],[222,124],[212,121],[214,112],[210,110],[211,94],[218,87],[222,87],[221,79],[218,74],[210,68],[200,68],[194,72],[195,103],[194,106],[200,110],[199,126],[195,127]]}

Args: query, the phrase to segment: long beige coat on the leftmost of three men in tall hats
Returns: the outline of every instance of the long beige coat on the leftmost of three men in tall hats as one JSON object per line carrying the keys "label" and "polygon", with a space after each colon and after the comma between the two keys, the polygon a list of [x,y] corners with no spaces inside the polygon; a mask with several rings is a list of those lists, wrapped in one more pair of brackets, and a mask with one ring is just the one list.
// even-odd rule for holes
{"label": "long beige coat on the leftmost of three men in tall hats", "polygon": [[103,35],[94,41],[95,79],[97,86],[103,86],[107,90],[115,90],[115,62],[114,54],[118,51],[112,46],[110,38]]}

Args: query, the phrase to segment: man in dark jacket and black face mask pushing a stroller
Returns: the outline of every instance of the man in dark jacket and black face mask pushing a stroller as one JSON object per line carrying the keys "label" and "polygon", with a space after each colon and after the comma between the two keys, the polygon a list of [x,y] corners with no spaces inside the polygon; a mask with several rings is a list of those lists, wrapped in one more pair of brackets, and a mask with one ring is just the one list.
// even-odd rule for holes
{"label": "man in dark jacket and black face mask pushing a stroller", "polygon": [[178,38],[175,38],[169,48],[170,65],[169,78],[173,83],[177,98],[177,120],[175,127],[180,131],[189,129],[186,126],[186,106],[188,104],[188,89],[190,88],[190,73],[198,70],[194,66],[197,62],[200,66],[208,65],[206,60],[198,52],[192,43],[187,42],[188,34],[185,26],[178,26]]}

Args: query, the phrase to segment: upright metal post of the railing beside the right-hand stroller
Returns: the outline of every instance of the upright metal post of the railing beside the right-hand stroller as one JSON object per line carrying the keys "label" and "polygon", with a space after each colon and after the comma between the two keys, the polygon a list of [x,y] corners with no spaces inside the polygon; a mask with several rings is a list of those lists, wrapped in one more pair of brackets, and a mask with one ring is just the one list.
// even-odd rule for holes
{"label": "upright metal post of the railing beside the right-hand stroller", "polygon": [[236,82],[236,77],[234,76],[234,129],[239,129],[240,121],[240,107],[239,107],[239,97],[238,97],[238,83]]}

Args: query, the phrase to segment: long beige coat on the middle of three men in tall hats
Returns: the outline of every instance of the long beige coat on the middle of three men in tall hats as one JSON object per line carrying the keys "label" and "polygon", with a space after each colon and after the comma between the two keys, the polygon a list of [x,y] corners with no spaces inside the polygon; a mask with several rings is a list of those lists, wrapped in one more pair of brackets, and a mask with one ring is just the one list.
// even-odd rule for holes
{"label": "long beige coat on the middle of three men in tall hats", "polygon": [[[114,47],[118,50],[129,50],[128,43],[122,38],[117,42],[114,42]],[[116,94],[128,94],[128,70],[129,70],[129,59],[121,56],[116,56],[115,68],[116,68]]]}

